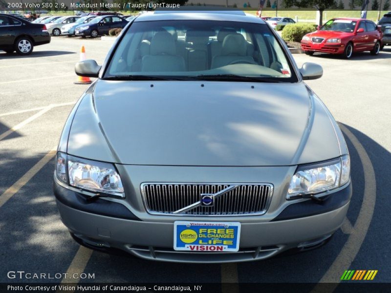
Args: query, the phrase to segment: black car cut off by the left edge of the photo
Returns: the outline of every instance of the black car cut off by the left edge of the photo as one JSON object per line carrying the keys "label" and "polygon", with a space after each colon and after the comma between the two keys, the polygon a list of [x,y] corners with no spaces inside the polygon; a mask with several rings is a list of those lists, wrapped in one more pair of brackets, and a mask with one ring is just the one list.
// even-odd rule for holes
{"label": "black car cut off by the left edge of the photo", "polygon": [[34,46],[50,42],[46,26],[31,23],[8,14],[0,14],[0,50],[7,53],[16,51],[19,55],[28,55]]}

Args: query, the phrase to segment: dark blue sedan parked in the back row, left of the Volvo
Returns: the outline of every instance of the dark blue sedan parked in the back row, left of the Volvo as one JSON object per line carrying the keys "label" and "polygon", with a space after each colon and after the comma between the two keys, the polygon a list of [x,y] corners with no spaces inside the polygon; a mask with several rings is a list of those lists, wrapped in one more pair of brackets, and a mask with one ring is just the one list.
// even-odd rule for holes
{"label": "dark blue sedan parked in the back row, left of the Volvo", "polygon": [[78,26],[75,29],[75,35],[96,38],[99,35],[108,34],[112,28],[124,28],[127,24],[128,21],[119,16],[99,16],[87,23],[87,25]]}

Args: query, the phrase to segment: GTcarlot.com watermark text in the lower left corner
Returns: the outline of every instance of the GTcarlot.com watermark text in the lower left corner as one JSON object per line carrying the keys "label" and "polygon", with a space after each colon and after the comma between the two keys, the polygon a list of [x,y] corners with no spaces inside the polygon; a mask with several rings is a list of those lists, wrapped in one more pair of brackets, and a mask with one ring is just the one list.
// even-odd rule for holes
{"label": "GTcarlot.com watermark text in the lower left corner", "polygon": [[25,272],[25,271],[9,271],[7,272],[8,279],[95,279],[95,273],[67,273],[67,272]]}

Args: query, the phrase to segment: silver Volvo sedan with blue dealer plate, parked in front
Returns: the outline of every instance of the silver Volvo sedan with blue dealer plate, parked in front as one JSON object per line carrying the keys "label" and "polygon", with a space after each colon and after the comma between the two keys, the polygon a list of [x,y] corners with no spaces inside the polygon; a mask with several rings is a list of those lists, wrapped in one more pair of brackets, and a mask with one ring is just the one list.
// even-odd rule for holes
{"label": "silver Volvo sedan with blue dealer plate, parked in front", "polygon": [[237,262],[326,243],[352,188],[344,137],[264,21],[155,12],[131,21],[65,124],[62,221],[98,250]]}

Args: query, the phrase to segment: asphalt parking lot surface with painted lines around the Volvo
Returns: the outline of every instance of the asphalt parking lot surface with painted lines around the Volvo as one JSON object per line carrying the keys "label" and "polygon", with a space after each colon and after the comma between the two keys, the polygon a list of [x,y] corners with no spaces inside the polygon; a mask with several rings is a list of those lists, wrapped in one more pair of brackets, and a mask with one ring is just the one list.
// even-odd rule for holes
{"label": "asphalt parking lot surface with painted lines around the Volvo", "polygon": [[[102,63],[112,42],[52,38],[19,57],[0,51],[0,282],[60,282],[7,277],[9,271],[85,272],[82,282],[340,282],[345,270],[378,270],[391,282],[391,47],[352,60],[295,54],[299,66],[319,63],[324,76],[307,84],[329,108],[347,139],[353,197],[347,219],[325,246],[238,264],[172,264],[90,251],[73,241],[52,193],[53,156],[72,105],[88,85],[74,64],[82,45]],[[153,233],[153,231],[151,231]],[[75,281],[75,280],[67,280]],[[76,281],[79,281],[77,279]]]}

